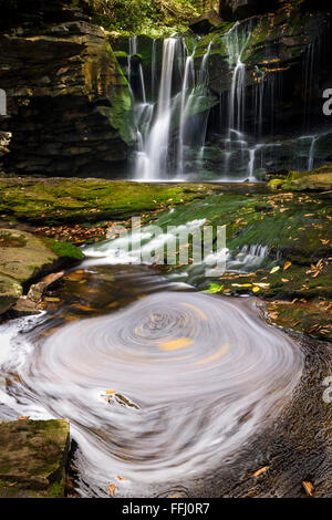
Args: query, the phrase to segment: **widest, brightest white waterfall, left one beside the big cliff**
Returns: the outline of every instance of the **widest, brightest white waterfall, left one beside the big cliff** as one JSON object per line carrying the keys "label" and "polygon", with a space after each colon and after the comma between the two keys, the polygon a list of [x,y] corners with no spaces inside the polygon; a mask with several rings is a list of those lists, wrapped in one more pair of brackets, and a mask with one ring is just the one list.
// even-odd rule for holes
{"label": "widest, brightest white waterfall, left one beside the big cliff", "polygon": [[[137,46],[133,51],[137,51]],[[195,70],[195,51],[189,53],[184,38],[167,38],[163,43],[162,73],[156,102],[136,102],[137,150],[135,178],[145,180],[167,179],[174,173],[178,179],[186,173],[186,150],[197,147],[197,160],[203,162],[209,111],[204,110],[208,95],[207,64],[212,40],[203,56],[199,70]],[[152,97],[156,91],[156,42],[152,49]],[[143,69],[142,69],[142,75]],[[144,84],[144,79],[142,84]],[[177,93],[174,91],[178,90]],[[199,132],[193,131],[193,117]],[[174,133],[177,129],[177,142]],[[174,153],[174,144],[176,149]],[[170,157],[170,152],[174,157]],[[175,165],[172,164],[176,163]]]}

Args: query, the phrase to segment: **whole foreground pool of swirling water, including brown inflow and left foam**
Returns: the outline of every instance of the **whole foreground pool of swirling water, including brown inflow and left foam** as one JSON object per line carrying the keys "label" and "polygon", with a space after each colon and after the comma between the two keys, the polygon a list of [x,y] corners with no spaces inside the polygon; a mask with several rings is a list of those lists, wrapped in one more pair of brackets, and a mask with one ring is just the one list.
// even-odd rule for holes
{"label": "whole foreground pool of swirling water, including brown inflow and left foam", "polygon": [[[82,496],[113,481],[156,492],[217,470],[291,398],[303,354],[252,305],[148,268],[85,269],[69,273],[61,310],[0,331],[0,413],[70,419]],[[65,302],[71,283],[81,293]]]}

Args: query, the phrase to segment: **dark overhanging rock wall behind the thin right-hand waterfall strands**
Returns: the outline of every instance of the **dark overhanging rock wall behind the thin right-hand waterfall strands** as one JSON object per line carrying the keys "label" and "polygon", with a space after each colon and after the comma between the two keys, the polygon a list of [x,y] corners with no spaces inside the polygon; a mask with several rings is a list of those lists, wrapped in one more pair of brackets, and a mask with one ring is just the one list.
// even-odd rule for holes
{"label": "dark overhanging rock wall behind the thin right-hand waterfall strands", "polygon": [[[222,29],[219,34],[218,31],[212,33],[209,85],[219,95],[230,92],[236,65],[236,61],[230,63],[230,56],[236,60],[236,51],[240,49],[240,60],[246,65],[245,129],[252,133],[250,125],[256,124],[252,98],[261,100],[263,95],[263,129],[270,133],[273,124],[274,135],[278,131],[284,135],[287,129],[291,138],[292,128],[299,129],[308,116],[323,133],[329,122],[322,113],[322,91],[332,81],[326,56],[331,41],[330,17],[287,6],[272,14],[245,20],[230,32],[227,30],[228,37]],[[209,34],[200,40],[197,60],[201,60],[210,39]],[[227,112],[227,106],[222,111]],[[303,135],[308,135],[308,128],[307,134],[305,128],[303,131]]]}

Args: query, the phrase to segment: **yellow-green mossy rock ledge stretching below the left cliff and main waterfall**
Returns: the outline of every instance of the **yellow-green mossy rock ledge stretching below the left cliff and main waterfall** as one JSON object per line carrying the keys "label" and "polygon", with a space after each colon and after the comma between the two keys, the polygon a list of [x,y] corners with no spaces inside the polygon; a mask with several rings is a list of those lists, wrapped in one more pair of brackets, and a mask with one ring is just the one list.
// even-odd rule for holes
{"label": "yellow-green mossy rock ledge stretching below the left cliff and main waterfall", "polygon": [[0,179],[0,211],[18,220],[56,225],[131,217],[201,198],[207,185],[152,185],[98,179]]}

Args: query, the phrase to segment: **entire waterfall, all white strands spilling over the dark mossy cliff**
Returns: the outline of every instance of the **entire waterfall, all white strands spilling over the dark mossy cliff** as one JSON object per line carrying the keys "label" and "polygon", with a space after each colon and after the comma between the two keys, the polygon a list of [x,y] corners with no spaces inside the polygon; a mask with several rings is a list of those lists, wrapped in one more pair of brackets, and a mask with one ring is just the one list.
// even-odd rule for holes
{"label": "entire waterfall, all white strands spilling over the dark mossy cliff", "polygon": [[[279,65],[276,49],[266,42],[260,63],[247,60],[258,39],[259,23],[257,19],[235,23],[221,39],[212,37],[204,53],[199,38],[154,40],[149,70],[139,63],[135,76],[134,65],[128,64],[128,79],[136,90],[135,179],[256,181],[266,173],[323,164],[317,153],[323,132],[309,124],[322,39],[315,37],[303,53],[305,121],[302,135],[299,123],[294,136],[280,127],[278,110],[287,69]],[[137,39],[132,39],[129,62],[138,46]],[[211,112],[218,105],[209,81],[215,49],[226,55],[228,86],[219,95],[218,110]],[[217,125],[211,123],[216,114]]]}

